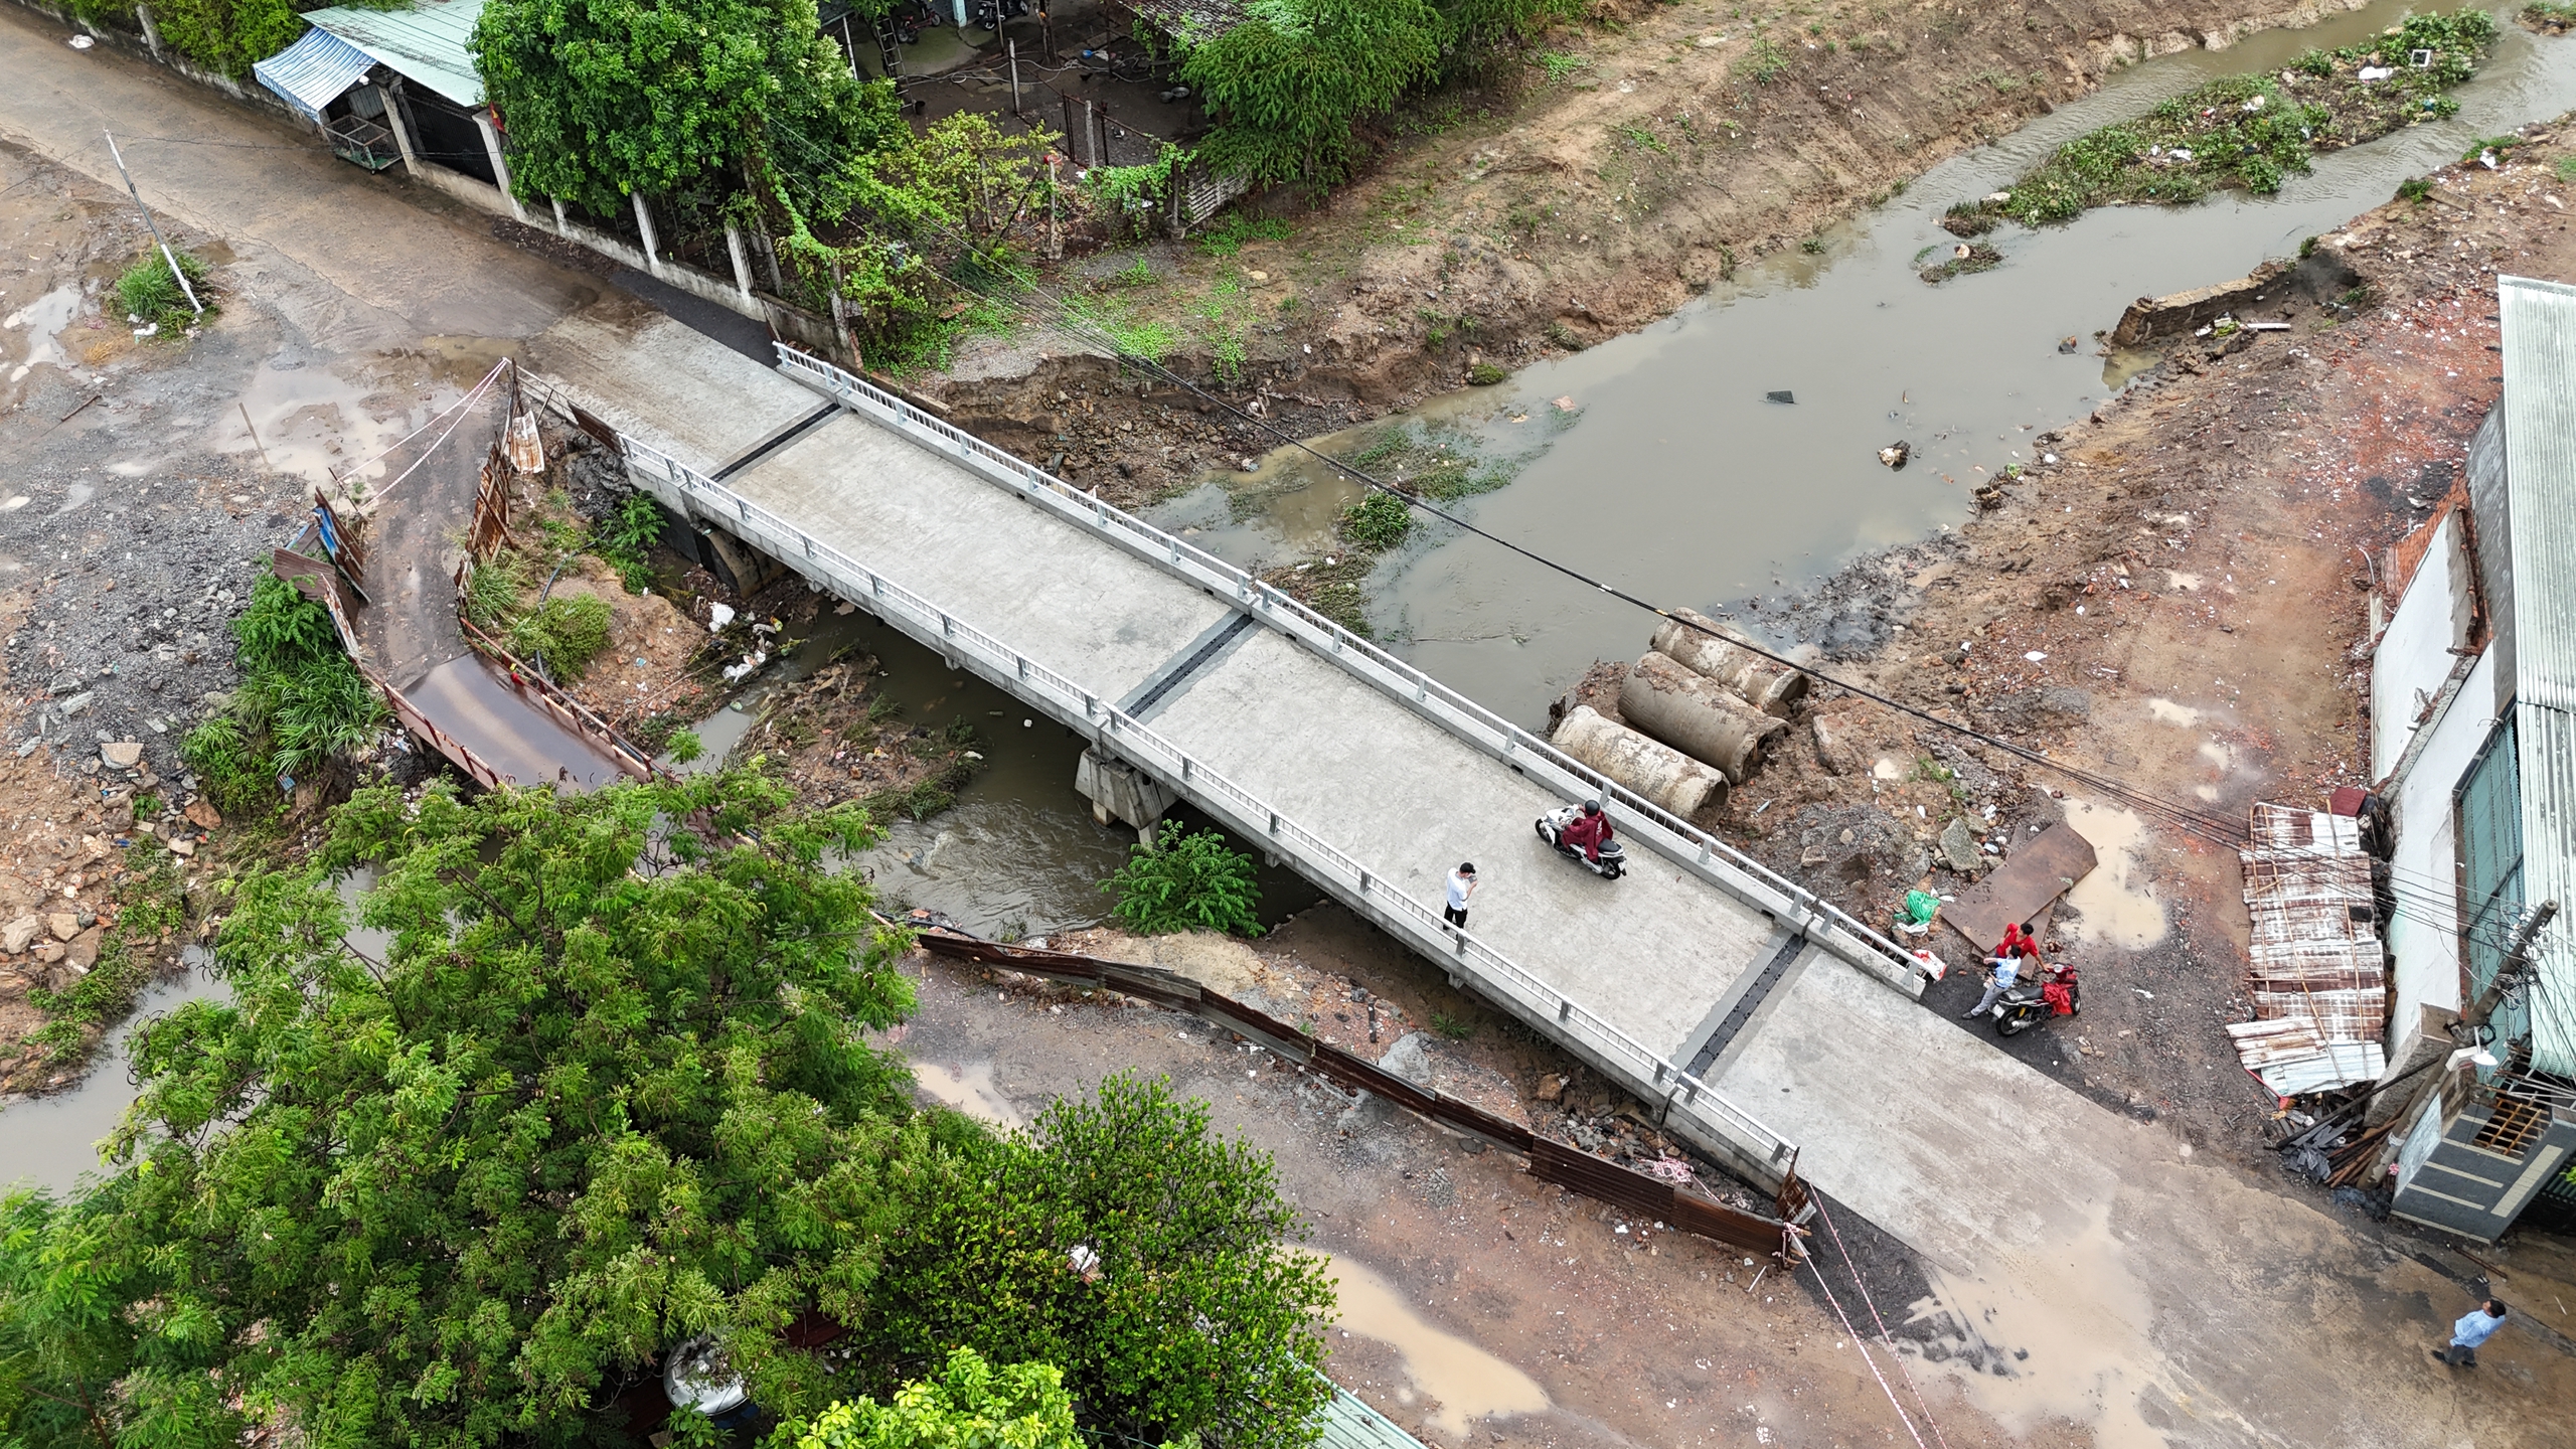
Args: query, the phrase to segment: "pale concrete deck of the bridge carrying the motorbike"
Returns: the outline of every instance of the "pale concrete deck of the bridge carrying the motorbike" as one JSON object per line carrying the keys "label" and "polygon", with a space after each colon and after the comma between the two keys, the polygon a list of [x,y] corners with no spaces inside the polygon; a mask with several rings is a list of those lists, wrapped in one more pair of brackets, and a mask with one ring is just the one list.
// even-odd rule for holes
{"label": "pale concrete deck of the bridge carrying the motorbike", "polygon": [[[1324,890],[1615,1080],[1669,1096],[1674,1129],[1757,1178],[1777,1173],[1788,1137],[1875,1140],[1904,1055],[1960,1039],[1886,990],[1888,962],[1850,931],[1723,859],[1692,859],[1651,820],[1623,820],[1633,869],[1620,882],[1553,859],[1530,820],[1584,792],[1579,779],[1406,699],[1386,670],[1334,657],[1327,637],[1213,575],[1084,536],[1105,523],[997,482],[966,451],[817,413],[814,389],[670,322],[574,320],[528,364],[629,436],[634,477],[665,503],[884,614],[1229,825],[1260,835],[1262,812],[1273,828],[1291,820],[1301,830],[1273,838]],[[1466,944],[1437,923],[1443,877],[1463,859],[1484,879]],[[1888,1083],[1852,1080],[1842,1049],[1814,1044],[1821,1003],[1806,998],[1819,993],[1886,998],[1857,1073]],[[1793,995],[1806,1003],[1783,1024]],[[1989,1070],[2020,1070],[1960,1044]],[[1981,1214],[1973,1196],[1868,1207],[1909,1240],[1909,1227],[1942,1240]]]}

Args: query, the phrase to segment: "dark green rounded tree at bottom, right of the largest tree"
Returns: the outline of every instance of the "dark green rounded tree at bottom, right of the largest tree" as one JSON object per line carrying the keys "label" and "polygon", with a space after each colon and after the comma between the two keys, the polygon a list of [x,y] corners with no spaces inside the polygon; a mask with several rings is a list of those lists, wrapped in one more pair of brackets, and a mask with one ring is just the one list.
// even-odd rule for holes
{"label": "dark green rounded tree at bottom, right of the largest tree", "polygon": [[1100,1441],[1314,1441],[1332,1281],[1291,1248],[1306,1225],[1267,1152],[1211,1134],[1208,1106],[1162,1078],[1113,1075],[1015,1137],[938,1116],[935,1150],[902,1168],[904,1235],[855,1338],[871,1390],[966,1346],[1061,1364]]}

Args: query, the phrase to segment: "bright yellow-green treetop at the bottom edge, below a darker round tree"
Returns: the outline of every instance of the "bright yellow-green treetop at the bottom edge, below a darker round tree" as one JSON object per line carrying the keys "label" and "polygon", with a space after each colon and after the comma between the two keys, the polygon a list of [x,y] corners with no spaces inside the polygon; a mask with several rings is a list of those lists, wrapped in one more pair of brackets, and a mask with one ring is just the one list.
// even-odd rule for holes
{"label": "bright yellow-green treetop at the bottom edge, below a darker round tree", "polygon": [[1074,1397],[1054,1364],[994,1369],[974,1348],[948,1354],[935,1379],[896,1390],[894,1403],[835,1403],[814,1423],[783,1426],[791,1449],[1082,1449]]}

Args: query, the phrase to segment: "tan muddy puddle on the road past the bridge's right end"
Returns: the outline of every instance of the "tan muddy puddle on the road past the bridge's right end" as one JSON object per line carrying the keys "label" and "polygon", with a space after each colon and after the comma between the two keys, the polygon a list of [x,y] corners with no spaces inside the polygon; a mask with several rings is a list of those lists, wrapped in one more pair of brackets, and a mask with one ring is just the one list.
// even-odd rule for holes
{"label": "tan muddy puddle on the road past the bridge's right end", "polygon": [[[2154,1390],[2190,1403],[2190,1395],[2148,1377],[2148,1364],[2161,1361],[2148,1341],[2154,1305],[2112,1238],[2110,1204],[2094,1207],[2071,1240],[2032,1256],[2050,1261],[1978,1279],[1927,1263],[1932,1297],[1911,1305],[1911,1323],[1932,1320],[1945,1330],[1937,1341],[1965,1366],[1958,1385],[2014,1439],[2069,1421],[2089,1428],[2097,1449],[2166,1449],[2141,1397]],[[2069,1281],[2084,1292],[2053,1289]],[[1940,1369],[1917,1364],[1914,1372]]]}

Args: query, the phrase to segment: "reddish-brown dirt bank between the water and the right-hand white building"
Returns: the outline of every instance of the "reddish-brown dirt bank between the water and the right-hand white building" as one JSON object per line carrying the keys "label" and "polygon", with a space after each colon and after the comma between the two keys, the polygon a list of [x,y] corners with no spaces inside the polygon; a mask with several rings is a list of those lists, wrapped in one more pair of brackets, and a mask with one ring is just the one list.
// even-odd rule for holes
{"label": "reddish-brown dirt bank between the water and the right-hand white building", "polygon": [[[2524,137],[2496,170],[2445,168],[2424,201],[2318,237],[2352,273],[2336,307],[2267,289],[2236,317],[2287,330],[2184,338],[2092,420],[2035,436],[2043,462],[1958,534],[1736,616],[1824,639],[1839,678],[2179,807],[2241,820],[2257,799],[2367,786],[2375,559],[2429,518],[2499,397],[2496,273],[2576,276],[2563,124]],[[1909,887],[1963,890],[1989,838],[2009,851],[2061,817],[2102,848],[2050,926],[2087,967],[2087,1011],[2002,1047],[2275,1171],[2272,1101],[2218,1029],[2249,1016],[2233,848],[1832,686],[1728,828],[1886,920]],[[1953,822],[1971,869],[1942,846]],[[1935,944],[1971,959],[1955,931]],[[1960,969],[1924,1003],[1958,1011],[1971,990]]]}

